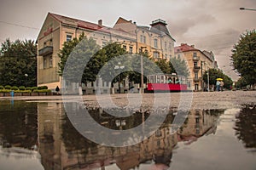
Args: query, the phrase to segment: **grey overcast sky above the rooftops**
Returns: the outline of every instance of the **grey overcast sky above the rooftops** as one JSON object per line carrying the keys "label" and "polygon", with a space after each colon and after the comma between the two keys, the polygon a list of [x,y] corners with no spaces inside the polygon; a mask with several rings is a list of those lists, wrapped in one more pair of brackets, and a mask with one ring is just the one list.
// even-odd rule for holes
{"label": "grey overcast sky above the rooftops", "polygon": [[119,16],[148,26],[166,20],[175,46],[181,42],[212,51],[219,67],[234,77],[230,68],[231,48],[239,35],[256,28],[256,0],[0,0],[0,41],[33,39],[48,12],[113,26]]}

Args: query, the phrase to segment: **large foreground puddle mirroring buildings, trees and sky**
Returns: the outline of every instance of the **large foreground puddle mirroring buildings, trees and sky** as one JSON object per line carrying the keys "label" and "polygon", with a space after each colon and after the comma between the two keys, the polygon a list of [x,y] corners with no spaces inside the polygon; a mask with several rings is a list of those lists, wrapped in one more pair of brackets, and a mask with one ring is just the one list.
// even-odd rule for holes
{"label": "large foreground puddle mirroring buildings, trees and sky", "polygon": [[[213,149],[211,150],[214,144],[221,148],[228,142],[236,147],[232,150],[240,150],[241,155],[247,157],[243,160],[247,165],[255,167],[254,161],[250,161],[254,160],[255,156],[247,154],[239,143],[236,144],[237,137],[245,147],[256,148],[255,112],[255,107],[246,106],[239,114],[236,114],[236,111],[226,113],[223,110],[189,111],[183,126],[177,132],[173,132],[172,122],[175,118],[173,111],[166,116],[166,121],[154,132],[154,135],[143,140],[142,143],[127,147],[107,147],[91,142],[78,133],[67,118],[62,104],[15,101],[10,105],[9,101],[4,100],[0,104],[0,162],[7,159],[7,150],[10,153],[9,157],[17,161],[15,150],[20,148],[30,155],[21,156],[30,160],[41,159],[45,169],[172,169],[172,167],[194,169],[196,168],[194,161],[198,163],[201,160],[206,161],[209,152],[214,153]],[[144,122],[149,113],[137,112],[121,119],[110,116],[104,111],[90,111],[90,115],[104,127],[124,130]],[[229,116],[231,118],[228,118]],[[236,122],[226,122],[225,119],[236,119]],[[230,125],[227,123],[233,123],[231,128],[226,127]],[[236,137],[232,126],[235,126]],[[231,133],[233,136],[231,139],[225,138],[222,133]],[[206,150],[200,150],[203,147]],[[221,151],[232,158],[230,150]],[[195,153],[199,152],[201,154],[195,156]],[[40,154],[41,158],[37,154]],[[184,162],[180,157],[184,155],[194,161]],[[195,160],[197,157],[199,160]],[[218,159],[218,156],[214,157],[216,157],[214,162],[222,165],[222,160]],[[31,163],[27,162],[27,164]],[[206,163],[212,163],[212,160]],[[232,166],[230,162],[227,164]],[[1,162],[0,167],[2,165]],[[205,169],[205,167],[197,169]],[[209,169],[218,168],[209,167]]]}

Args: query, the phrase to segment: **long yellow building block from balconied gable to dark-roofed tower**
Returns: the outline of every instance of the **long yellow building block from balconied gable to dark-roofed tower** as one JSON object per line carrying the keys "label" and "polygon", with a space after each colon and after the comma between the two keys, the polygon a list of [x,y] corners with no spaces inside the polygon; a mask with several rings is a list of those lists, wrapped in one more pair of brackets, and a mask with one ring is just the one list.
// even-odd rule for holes
{"label": "long yellow building block from balconied gable to dark-roofed tower", "polygon": [[[137,26],[136,23],[119,18],[113,28],[103,26],[102,20],[96,24],[77,20],[60,14],[49,13],[38,34],[38,86],[48,86],[54,90],[61,88],[61,77],[58,75],[58,53],[64,42],[84,32],[103,47],[107,42],[119,42],[129,53],[147,50],[154,59],[170,59],[174,56],[174,39],[166,28],[166,21],[154,20],[148,26]],[[109,83],[101,82],[109,88]],[[92,83],[92,87],[94,83]]]}

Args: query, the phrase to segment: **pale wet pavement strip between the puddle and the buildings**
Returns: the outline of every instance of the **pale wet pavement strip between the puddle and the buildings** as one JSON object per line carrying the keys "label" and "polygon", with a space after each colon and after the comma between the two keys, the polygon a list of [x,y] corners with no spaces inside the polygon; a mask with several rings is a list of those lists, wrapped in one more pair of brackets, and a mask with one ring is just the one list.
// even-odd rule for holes
{"label": "pale wet pavement strip between the puddle and the buildings", "polygon": [[[167,94],[102,94],[83,95],[81,96],[66,96],[65,101],[82,101],[87,107],[98,108],[101,104],[109,105],[113,101],[114,105],[125,107],[127,105],[139,105],[142,107],[152,107],[155,105],[154,99],[161,99],[160,103],[165,103],[166,99],[170,101],[170,107],[182,108],[184,100],[186,105],[190,105],[191,109],[231,109],[240,108],[244,104],[256,104],[256,91],[225,91],[225,92],[197,92],[197,93],[172,93],[169,97]],[[189,95],[193,97],[189,101]],[[0,97],[3,99],[26,100],[29,102],[63,102],[62,96],[17,96],[17,97]],[[182,100],[181,100],[182,99]]]}

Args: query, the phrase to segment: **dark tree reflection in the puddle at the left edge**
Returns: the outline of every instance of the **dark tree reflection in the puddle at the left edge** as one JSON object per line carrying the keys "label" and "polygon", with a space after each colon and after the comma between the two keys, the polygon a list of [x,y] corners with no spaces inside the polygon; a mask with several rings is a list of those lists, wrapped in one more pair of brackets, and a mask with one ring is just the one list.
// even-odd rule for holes
{"label": "dark tree reflection in the puddle at the left edge", "polygon": [[[3,147],[31,149],[37,144],[37,104],[3,100],[0,103],[0,141]],[[26,108],[26,110],[24,109]]]}

